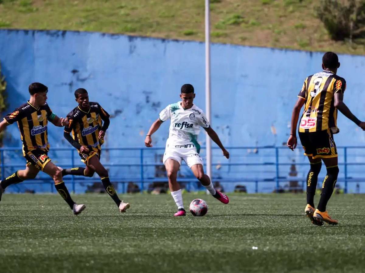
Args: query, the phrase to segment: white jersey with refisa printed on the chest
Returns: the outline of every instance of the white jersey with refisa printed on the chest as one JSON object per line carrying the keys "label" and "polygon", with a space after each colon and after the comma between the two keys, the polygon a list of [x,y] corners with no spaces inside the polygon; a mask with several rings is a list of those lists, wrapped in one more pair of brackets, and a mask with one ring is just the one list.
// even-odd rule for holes
{"label": "white jersey with refisa printed on the chest", "polygon": [[171,119],[171,124],[166,149],[196,147],[199,154],[200,145],[197,138],[200,127],[208,128],[210,126],[204,112],[195,104],[190,109],[184,110],[180,101],[170,104],[161,111],[160,120],[168,119]]}

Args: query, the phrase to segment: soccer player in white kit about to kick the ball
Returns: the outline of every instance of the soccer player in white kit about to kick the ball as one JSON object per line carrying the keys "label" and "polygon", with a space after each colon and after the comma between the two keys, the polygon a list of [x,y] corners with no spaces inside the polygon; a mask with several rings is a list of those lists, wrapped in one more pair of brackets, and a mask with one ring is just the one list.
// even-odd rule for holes
{"label": "soccer player in white kit about to kick the ball", "polygon": [[222,149],[226,158],[229,158],[229,153],[224,149],[216,132],[210,127],[204,112],[193,104],[195,93],[191,84],[184,84],[181,87],[180,98],[181,101],[170,104],[161,111],[160,117],[151,125],[145,139],[145,145],[152,147],[151,135],[160,128],[163,122],[171,119],[163,162],[169,178],[171,195],[178,208],[174,216],[186,215],[180,185],[176,181],[177,171],[180,169],[182,160],[187,163],[195,177],[215,198],[224,204],[229,202],[227,195],[216,191],[208,175],[204,174],[203,159],[199,155],[200,145],[197,142],[200,127],[203,127],[210,138]]}

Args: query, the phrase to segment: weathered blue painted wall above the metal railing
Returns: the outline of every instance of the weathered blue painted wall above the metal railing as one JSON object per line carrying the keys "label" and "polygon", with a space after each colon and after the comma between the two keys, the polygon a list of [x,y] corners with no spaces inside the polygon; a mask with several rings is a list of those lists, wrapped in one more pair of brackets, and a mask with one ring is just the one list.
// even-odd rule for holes
{"label": "weathered blue painted wall above the metal railing", "polygon": [[[226,146],[276,145],[287,141],[291,111],[303,80],[318,72],[322,53],[212,44],[212,126]],[[347,81],[345,102],[365,119],[365,57],[340,55],[338,74]],[[49,87],[48,103],[65,116],[83,87],[112,114],[106,145],[143,146],[150,124],[180,86],[195,87],[204,107],[204,43],[72,31],[0,30],[2,73],[9,109],[28,99],[28,85]],[[337,145],[365,145],[365,134],[339,116]],[[164,146],[168,126],[153,138]],[[62,129],[50,126],[51,147],[65,147]],[[204,137],[200,137],[204,145]],[[6,146],[20,146],[16,126],[7,127]],[[295,152],[300,155],[301,150]],[[222,158],[219,161],[224,162]]]}

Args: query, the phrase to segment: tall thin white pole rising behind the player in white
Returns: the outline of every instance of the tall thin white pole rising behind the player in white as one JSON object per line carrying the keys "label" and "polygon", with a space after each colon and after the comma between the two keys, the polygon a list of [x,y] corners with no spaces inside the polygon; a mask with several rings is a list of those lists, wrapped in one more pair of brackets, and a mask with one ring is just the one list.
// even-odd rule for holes
{"label": "tall thin white pole rising behind the player in white", "polygon": [[[205,114],[209,122],[211,119],[210,111],[210,27],[209,27],[209,0],[205,0]],[[212,177],[212,146],[208,134],[206,137],[207,147],[207,175]],[[209,192],[207,191],[207,194]]]}

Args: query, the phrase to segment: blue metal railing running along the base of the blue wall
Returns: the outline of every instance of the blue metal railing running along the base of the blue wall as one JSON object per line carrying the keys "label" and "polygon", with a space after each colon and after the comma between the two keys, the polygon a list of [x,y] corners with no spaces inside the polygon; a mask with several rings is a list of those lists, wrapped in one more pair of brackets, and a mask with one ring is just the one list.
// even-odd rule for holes
{"label": "blue metal railing running along the base of the blue wall", "polygon": [[[365,174],[362,174],[361,166],[365,165],[365,153],[357,153],[364,149],[363,146],[347,146],[338,147],[340,175],[338,182],[343,184],[345,193],[349,192],[349,183],[365,182]],[[302,150],[297,149],[295,153],[290,151],[287,147],[228,147],[227,150],[231,153],[231,159],[227,163],[220,163],[222,155],[218,147],[213,148],[212,164],[216,167],[215,173],[212,175],[212,181],[219,181],[220,183],[254,183],[254,192],[259,192],[259,183],[268,184],[274,190],[283,188],[283,183],[301,182],[299,189],[304,189],[306,174],[308,171],[308,159],[303,156]],[[103,154],[116,153],[109,156],[107,160],[104,155],[101,156],[101,162],[106,168],[110,170],[118,168],[118,170],[110,171],[110,179],[112,182],[122,184],[122,193],[125,192],[125,184],[132,182],[139,184],[140,190],[146,190],[146,183],[151,182],[167,182],[166,177],[156,177],[156,168],[163,166],[161,162],[161,153],[164,147],[153,148],[109,148],[103,147]],[[202,149],[204,151],[204,148]],[[237,154],[237,151],[239,152]],[[349,151],[355,151],[349,153]],[[204,153],[203,153],[204,154]],[[81,162],[75,161],[75,156],[78,157],[77,151],[72,148],[52,148],[49,153],[53,162],[60,167],[76,167],[83,166]],[[219,157],[218,157],[219,155]],[[352,158],[352,162],[349,159]],[[23,169],[24,159],[22,158],[22,151],[20,148],[5,147],[0,148],[1,159],[1,179],[7,175],[11,175],[18,169]],[[295,169],[296,174],[288,176],[287,167]],[[294,167],[293,167],[294,166]],[[341,168],[343,166],[343,168]],[[255,168],[259,168],[256,170]],[[126,168],[133,168],[132,171],[120,171]],[[155,169],[153,169],[155,168]],[[183,166],[182,166],[183,168]],[[187,167],[185,167],[186,169]],[[353,174],[350,175],[350,168]],[[357,170],[356,170],[357,168]],[[123,169],[123,170],[124,170]],[[325,169],[325,168],[323,168]],[[120,173],[122,172],[122,175]],[[360,173],[360,176],[354,177],[354,174]],[[123,175],[124,174],[124,175]],[[244,178],[243,178],[244,177]],[[69,175],[65,177],[65,182],[71,183],[72,191],[77,191],[77,185],[90,184],[98,181],[95,176],[93,178],[75,177]],[[186,178],[178,178],[180,182],[187,182],[188,187],[191,188],[191,183],[196,182],[195,177],[186,176]],[[53,181],[45,176],[39,175],[39,178],[28,181],[26,184],[50,184],[51,192],[53,192]],[[22,183],[23,184],[23,183]],[[274,185],[272,185],[274,184]],[[21,191],[21,184],[14,185]],[[262,191],[262,190],[261,190]]]}

